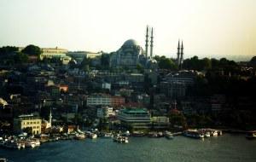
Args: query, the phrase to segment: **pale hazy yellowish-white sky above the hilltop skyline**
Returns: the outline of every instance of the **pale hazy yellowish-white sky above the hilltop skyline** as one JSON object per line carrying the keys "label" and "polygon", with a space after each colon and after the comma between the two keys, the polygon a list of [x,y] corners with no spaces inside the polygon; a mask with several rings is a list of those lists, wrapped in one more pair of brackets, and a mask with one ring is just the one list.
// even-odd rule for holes
{"label": "pale hazy yellowish-white sky above the hilltop skyline", "polygon": [[133,38],[154,55],[247,61],[256,55],[256,0],[0,0],[0,46],[112,52]]}

